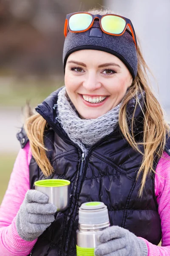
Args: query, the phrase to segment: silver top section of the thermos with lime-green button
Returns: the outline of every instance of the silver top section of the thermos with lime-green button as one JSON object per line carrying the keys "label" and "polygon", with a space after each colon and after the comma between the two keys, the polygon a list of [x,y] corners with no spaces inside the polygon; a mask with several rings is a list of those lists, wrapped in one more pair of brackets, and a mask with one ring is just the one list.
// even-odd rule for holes
{"label": "silver top section of the thermos with lime-green button", "polygon": [[102,202],[87,202],[79,208],[80,224],[101,224],[108,221],[108,208]]}

